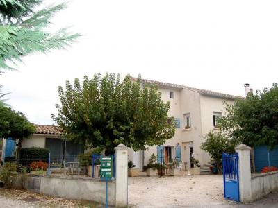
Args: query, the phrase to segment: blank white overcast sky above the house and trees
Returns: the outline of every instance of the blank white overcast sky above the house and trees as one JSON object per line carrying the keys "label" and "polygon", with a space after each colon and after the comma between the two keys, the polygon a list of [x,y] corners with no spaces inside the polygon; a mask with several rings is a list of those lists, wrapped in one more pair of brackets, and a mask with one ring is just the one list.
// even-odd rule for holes
{"label": "blank white overcast sky above the house and trees", "polygon": [[[47,0],[50,3],[62,1]],[[67,50],[35,53],[0,76],[10,106],[53,124],[58,86],[121,73],[245,96],[278,77],[278,1],[72,0],[51,30],[83,37]]]}

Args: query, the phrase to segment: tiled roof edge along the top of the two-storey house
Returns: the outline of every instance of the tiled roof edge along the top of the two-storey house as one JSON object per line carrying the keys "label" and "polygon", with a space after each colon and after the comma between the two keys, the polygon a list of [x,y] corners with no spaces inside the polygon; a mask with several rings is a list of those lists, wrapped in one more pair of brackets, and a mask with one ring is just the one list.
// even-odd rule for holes
{"label": "tiled roof edge along the top of the two-storey house", "polygon": [[[136,81],[137,78],[133,78],[131,77],[132,81]],[[234,96],[231,94],[224,94],[222,92],[213,92],[211,90],[207,90],[207,89],[197,89],[194,87],[188,87],[185,85],[177,85],[177,84],[172,84],[172,83],[163,83],[163,82],[159,82],[159,81],[155,81],[155,80],[145,80],[145,79],[141,79],[142,83],[149,83],[149,84],[153,84],[153,85],[159,85],[161,87],[170,87],[170,88],[176,88],[176,89],[189,89],[195,92],[199,92],[199,94],[205,95],[205,96],[214,96],[214,97],[218,97],[218,98],[227,98],[227,99],[231,99],[231,100],[235,100],[237,98],[242,99],[243,97],[240,96]]]}

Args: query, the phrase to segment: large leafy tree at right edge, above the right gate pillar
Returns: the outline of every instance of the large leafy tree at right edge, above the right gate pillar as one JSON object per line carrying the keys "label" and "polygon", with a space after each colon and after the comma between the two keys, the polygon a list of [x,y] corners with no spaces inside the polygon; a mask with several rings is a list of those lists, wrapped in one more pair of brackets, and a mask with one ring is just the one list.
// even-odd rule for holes
{"label": "large leafy tree at right edge, above the right gate pillar", "polygon": [[254,147],[278,145],[278,86],[273,84],[263,92],[249,93],[245,99],[227,105],[227,116],[220,127],[231,139]]}

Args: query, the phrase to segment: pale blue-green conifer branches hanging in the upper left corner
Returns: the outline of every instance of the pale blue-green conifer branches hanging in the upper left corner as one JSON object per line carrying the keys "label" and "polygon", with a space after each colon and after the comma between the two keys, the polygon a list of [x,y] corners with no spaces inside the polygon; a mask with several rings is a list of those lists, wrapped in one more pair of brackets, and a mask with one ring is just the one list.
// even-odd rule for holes
{"label": "pale blue-green conifer branches hanging in the upper left corner", "polygon": [[51,17],[66,3],[38,10],[41,4],[42,0],[0,0],[0,69],[13,69],[7,62],[15,64],[33,52],[62,49],[79,37],[67,28],[47,32]]}

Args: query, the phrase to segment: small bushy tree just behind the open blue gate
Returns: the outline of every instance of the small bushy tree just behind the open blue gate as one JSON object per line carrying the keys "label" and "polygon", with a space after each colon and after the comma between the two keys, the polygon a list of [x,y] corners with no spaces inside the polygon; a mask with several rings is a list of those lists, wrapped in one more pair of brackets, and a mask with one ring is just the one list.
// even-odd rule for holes
{"label": "small bushy tree just behind the open blue gate", "polygon": [[222,153],[234,153],[235,144],[222,132],[211,131],[204,137],[201,148],[215,159],[218,173],[222,173]]}

